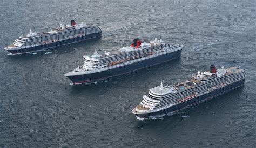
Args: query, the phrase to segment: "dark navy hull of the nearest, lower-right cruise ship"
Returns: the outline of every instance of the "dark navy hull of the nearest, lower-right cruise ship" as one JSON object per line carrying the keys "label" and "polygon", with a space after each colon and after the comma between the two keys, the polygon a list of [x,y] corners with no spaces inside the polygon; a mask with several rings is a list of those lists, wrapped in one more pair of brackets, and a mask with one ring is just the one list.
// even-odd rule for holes
{"label": "dark navy hull of the nearest, lower-right cruise ship", "polygon": [[[183,110],[187,107],[191,107],[192,105],[199,104],[201,102],[210,100],[213,97],[216,97],[216,96],[219,96],[221,94],[227,93],[227,91],[231,91],[235,88],[244,86],[244,82],[245,82],[245,79],[239,80],[239,81],[234,82],[232,84],[228,84],[227,86],[225,86],[223,88],[220,88],[220,89],[211,91],[210,93],[192,98],[191,100],[188,100],[188,101],[185,101],[183,103],[174,105],[174,106],[172,106],[170,108],[166,108],[164,110],[160,110],[160,111],[157,111],[157,112],[151,112],[151,113],[147,113],[147,114],[135,114],[135,115],[137,117],[140,117],[140,118],[155,118],[155,117],[161,117],[161,116],[169,115],[170,113],[174,114],[175,112],[177,112],[179,110]],[[170,114],[170,115],[172,115],[172,114]]]}

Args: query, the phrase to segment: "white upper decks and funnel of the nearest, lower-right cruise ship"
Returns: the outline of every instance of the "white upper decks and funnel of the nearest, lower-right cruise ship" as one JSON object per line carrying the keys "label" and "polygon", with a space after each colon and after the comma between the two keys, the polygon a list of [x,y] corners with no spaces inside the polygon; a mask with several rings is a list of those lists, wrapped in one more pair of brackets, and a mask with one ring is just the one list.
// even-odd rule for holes
{"label": "white upper decks and funnel of the nearest, lower-right cruise ship", "polygon": [[216,69],[211,66],[210,71],[197,72],[190,79],[174,84],[151,88],[143,100],[135,107],[133,114],[158,112],[173,105],[192,100],[211,91],[226,87],[229,84],[245,79],[245,71],[237,67]]}

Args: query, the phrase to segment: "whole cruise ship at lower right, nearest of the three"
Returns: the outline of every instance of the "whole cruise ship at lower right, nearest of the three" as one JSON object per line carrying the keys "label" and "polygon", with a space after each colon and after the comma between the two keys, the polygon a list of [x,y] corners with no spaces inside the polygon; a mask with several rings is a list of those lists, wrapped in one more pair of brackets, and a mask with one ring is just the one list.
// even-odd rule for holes
{"label": "whole cruise ship at lower right, nearest of the three", "polygon": [[191,105],[241,87],[244,82],[244,69],[224,68],[224,66],[216,69],[215,65],[211,65],[209,71],[199,71],[184,82],[173,86],[164,86],[161,82],[160,86],[151,88],[132,113],[137,116],[137,119],[173,115]]}

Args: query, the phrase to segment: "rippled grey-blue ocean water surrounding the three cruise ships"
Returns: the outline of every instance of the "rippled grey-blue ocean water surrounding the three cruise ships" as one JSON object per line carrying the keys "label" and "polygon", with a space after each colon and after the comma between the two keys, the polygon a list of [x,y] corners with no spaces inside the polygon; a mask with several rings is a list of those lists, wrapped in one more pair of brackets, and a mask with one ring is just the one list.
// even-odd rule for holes
{"label": "rippled grey-blue ocean water surrounding the three cruise ships", "polygon": [[[0,146],[255,147],[256,1],[1,1]],[[29,29],[71,19],[102,38],[19,56],[5,46]],[[179,59],[71,87],[64,73],[82,55],[162,36],[184,45]],[[245,86],[173,116],[138,121],[131,110],[149,88],[183,81],[211,64],[240,66]]]}

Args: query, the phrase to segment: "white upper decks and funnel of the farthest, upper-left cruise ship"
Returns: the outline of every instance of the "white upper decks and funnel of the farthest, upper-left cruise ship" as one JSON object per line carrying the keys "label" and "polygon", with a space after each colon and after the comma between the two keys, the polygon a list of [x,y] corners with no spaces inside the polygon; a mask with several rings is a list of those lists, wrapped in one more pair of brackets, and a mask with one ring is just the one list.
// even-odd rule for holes
{"label": "white upper decks and funnel of the farthest, upper-left cruise ship", "polygon": [[5,47],[5,50],[17,50],[56,43],[97,32],[101,32],[101,30],[95,25],[86,25],[83,22],[76,24],[74,20],[71,20],[71,25],[60,24],[59,27],[48,32],[36,33],[30,29],[29,34],[19,36],[13,44]]}

